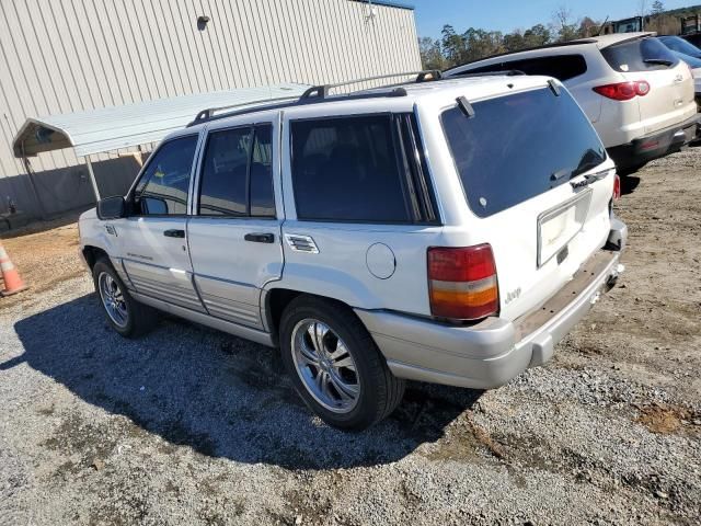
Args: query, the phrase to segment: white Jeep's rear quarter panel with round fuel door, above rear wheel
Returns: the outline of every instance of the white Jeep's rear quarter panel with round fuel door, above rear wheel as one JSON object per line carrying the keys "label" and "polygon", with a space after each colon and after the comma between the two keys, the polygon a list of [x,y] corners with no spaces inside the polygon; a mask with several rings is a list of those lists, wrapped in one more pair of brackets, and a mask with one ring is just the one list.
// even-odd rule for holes
{"label": "white Jeep's rear quarter panel with round fuel door, above rear wheel", "polygon": [[[441,227],[290,220],[283,232],[311,237],[319,253],[295,251],[284,241],[285,271],[273,287],[326,296],[361,309],[430,315],[426,249],[440,242]],[[376,251],[380,261],[376,256],[374,264]]]}

